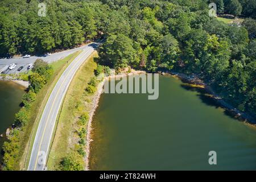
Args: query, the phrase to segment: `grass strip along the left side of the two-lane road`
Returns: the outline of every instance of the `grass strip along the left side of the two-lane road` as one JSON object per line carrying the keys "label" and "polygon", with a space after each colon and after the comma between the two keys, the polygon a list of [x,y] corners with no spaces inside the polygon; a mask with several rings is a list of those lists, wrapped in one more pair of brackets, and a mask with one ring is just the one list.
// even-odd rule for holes
{"label": "grass strip along the left side of the two-lane road", "polygon": [[36,130],[38,129],[40,118],[43,114],[44,107],[46,106],[47,100],[51,95],[51,92],[56,85],[61,74],[65,71],[69,64],[77,57],[81,51],[77,51],[64,59],[52,63],[53,75],[46,85],[40,90],[36,96],[35,102],[31,106],[31,119],[28,125],[24,128],[24,133],[22,136],[22,159],[20,160],[20,168],[27,169],[28,162],[30,159],[32,145],[34,143]]}

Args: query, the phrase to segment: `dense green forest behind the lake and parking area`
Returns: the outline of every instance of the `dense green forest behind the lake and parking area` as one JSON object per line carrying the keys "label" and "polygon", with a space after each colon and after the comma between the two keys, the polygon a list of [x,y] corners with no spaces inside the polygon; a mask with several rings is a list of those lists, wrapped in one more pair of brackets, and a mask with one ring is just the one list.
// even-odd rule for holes
{"label": "dense green forest behind the lake and parking area", "polygon": [[[38,4],[46,3],[46,16]],[[226,24],[209,16],[243,18]],[[102,65],[195,74],[255,116],[256,0],[2,0],[0,57],[32,55],[103,40]]]}

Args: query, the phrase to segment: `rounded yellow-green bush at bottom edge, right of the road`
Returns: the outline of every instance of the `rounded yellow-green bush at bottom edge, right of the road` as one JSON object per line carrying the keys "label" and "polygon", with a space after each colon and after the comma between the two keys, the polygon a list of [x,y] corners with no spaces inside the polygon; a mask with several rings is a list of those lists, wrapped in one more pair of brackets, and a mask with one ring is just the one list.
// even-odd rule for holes
{"label": "rounded yellow-green bush at bottom edge, right of the road", "polygon": [[82,171],[84,170],[84,159],[77,152],[71,152],[60,162],[62,171]]}

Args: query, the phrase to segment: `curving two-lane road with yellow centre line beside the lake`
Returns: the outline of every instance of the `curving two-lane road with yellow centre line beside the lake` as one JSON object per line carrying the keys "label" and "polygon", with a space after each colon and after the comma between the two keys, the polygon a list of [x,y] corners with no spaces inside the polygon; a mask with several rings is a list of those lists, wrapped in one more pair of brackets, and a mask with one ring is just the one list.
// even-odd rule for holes
{"label": "curving two-lane road with yellow centre line beside the lake", "polygon": [[82,49],[82,52],[75,60],[68,66],[61,75],[55,88],[49,97],[49,100],[44,109],[42,118],[40,120],[38,131],[36,132],[35,141],[32,148],[30,157],[30,163],[28,166],[29,171],[42,171],[45,168],[46,159],[49,153],[49,146],[51,143],[53,129],[57,114],[61,106],[61,102],[67,92],[68,86],[75,75],[80,65],[88,58],[88,56],[94,51],[96,46],[86,46]]}

